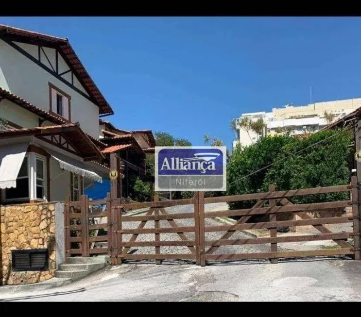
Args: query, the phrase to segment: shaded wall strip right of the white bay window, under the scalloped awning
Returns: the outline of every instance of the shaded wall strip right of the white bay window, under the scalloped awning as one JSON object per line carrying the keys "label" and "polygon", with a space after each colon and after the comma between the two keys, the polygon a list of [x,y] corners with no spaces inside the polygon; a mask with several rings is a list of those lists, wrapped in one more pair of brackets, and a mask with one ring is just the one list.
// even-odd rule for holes
{"label": "shaded wall strip right of the white bay window, under the scalloped awning", "polygon": [[60,169],[59,162],[50,158],[50,200],[64,201],[70,195],[70,172]]}

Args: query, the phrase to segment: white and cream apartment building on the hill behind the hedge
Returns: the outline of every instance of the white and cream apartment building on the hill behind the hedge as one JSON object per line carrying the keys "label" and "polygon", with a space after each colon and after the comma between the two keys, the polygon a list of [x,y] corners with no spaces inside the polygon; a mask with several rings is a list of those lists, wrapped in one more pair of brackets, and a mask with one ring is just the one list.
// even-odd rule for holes
{"label": "white and cream apartment building on the hill behind the hedge", "polygon": [[336,121],[360,106],[361,98],[356,98],[315,102],[305,106],[287,104],[280,108],[272,108],[272,112],[244,113],[237,118],[238,124],[243,118],[248,118],[252,122],[262,118],[265,127],[262,133],[256,133],[252,128],[239,125],[237,129],[238,140],[233,141],[233,148],[239,142],[242,146],[251,145],[262,135],[277,135],[286,132],[291,135],[315,133],[329,123],[325,117],[325,111],[333,116],[332,121]]}

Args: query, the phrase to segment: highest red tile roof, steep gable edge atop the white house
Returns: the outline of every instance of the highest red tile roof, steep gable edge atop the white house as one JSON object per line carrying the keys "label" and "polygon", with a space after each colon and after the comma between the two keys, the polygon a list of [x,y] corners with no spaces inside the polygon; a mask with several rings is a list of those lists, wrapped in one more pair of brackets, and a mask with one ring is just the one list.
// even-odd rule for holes
{"label": "highest red tile roof, steep gable edge atop the white house", "polygon": [[0,24],[0,37],[9,38],[19,42],[29,44],[49,45],[59,50],[62,57],[68,63],[74,75],[83,84],[86,92],[91,96],[93,102],[99,107],[99,114],[113,115],[114,111],[105,100],[97,85],[86,71],[86,68],[76,55],[67,38],[55,37],[38,32],[23,30],[8,25]]}

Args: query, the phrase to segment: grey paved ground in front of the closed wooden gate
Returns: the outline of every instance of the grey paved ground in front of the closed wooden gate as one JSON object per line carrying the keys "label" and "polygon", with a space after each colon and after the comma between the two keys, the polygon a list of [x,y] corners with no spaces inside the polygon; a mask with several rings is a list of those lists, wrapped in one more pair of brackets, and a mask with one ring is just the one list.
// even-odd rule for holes
{"label": "grey paved ground in front of the closed wooden gate", "polygon": [[123,264],[82,281],[0,301],[359,301],[361,263],[337,258],[189,264]]}

